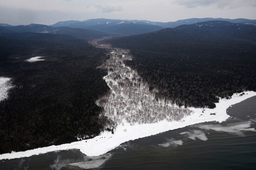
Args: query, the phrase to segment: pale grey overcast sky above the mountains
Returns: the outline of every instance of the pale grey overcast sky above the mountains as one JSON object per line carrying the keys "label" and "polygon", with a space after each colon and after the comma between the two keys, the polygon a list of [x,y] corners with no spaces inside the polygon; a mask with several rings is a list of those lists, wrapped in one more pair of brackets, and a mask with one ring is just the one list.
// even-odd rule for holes
{"label": "pale grey overcast sky above the mountains", "polygon": [[256,0],[0,0],[0,23],[54,24],[64,20],[188,18],[256,19]]}

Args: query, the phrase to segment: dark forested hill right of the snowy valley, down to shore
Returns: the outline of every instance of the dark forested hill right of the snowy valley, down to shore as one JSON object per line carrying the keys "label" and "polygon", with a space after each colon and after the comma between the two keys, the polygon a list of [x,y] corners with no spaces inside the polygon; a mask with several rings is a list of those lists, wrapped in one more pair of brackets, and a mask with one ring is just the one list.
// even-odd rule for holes
{"label": "dark forested hill right of the snowy valley, down to shore", "polygon": [[256,90],[253,25],[209,21],[108,42],[131,49],[127,64],[180,106],[215,107],[217,97]]}

